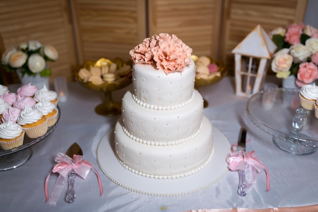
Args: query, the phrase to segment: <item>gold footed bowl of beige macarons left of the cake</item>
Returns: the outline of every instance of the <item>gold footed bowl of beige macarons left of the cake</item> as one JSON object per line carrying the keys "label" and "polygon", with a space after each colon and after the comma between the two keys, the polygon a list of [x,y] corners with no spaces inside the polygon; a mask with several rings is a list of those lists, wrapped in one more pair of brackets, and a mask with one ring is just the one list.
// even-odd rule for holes
{"label": "gold footed bowl of beige macarons left of the cake", "polygon": [[[130,66],[129,71],[122,72],[123,68],[128,70],[128,66]],[[75,68],[75,79],[82,86],[90,90],[96,90],[98,92],[105,93],[105,100],[95,107],[95,112],[97,114],[104,116],[115,116],[121,113],[121,103],[113,101],[112,92],[132,83],[131,67],[132,63],[124,62],[120,58],[115,58],[112,60],[100,58],[95,62],[86,60],[84,65],[77,66]],[[101,70],[101,79],[98,80],[96,80],[96,78],[99,76],[99,74],[96,73],[97,68]],[[89,76],[87,71],[92,72],[93,70],[94,73],[91,73]],[[111,79],[109,77],[111,77]]]}

